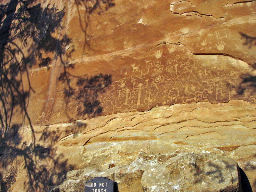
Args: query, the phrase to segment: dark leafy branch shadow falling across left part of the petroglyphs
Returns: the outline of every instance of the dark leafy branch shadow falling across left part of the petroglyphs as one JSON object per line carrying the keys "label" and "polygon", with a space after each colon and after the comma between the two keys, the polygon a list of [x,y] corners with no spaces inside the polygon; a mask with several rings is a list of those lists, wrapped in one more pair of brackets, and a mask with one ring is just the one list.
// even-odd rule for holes
{"label": "dark leafy branch shadow falling across left part of the petroglyphs", "polygon": [[[96,76],[76,76],[68,72],[64,66],[64,72],[60,74],[59,81],[65,85],[64,99],[66,108],[71,102],[79,103],[77,117],[94,117],[102,113],[103,106],[99,100],[99,93],[105,92],[112,83],[111,75],[99,74]],[[71,81],[76,82],[72,84]],[[68,116],[68,113],[66,114]],[[69,117],[70,120],[71,117]]]}

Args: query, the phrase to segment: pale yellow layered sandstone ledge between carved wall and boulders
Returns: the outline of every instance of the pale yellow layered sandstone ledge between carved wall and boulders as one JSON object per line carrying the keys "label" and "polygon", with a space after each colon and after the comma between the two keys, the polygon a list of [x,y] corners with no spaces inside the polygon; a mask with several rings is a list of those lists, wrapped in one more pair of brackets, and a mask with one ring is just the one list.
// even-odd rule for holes
{"label": "pale yellow layered sandstone ledge between carved wall and boulders", "polygon": [[[58,183],[60,175],[72,169],[108,169],[131,164],[140,151],[152,155],[176,151],[231,157],[246,174],[249,173],[248,179],[255,189],[255,108],[255,104],[243,100],[221,104],[176,104],[68,124],[34,126],[34,131],[37,143],[51,149],[45,151],[42,148],[39,153],[46,157],[40,161],[47,165],[49,175],[53,175],[49,178],[53,184]],[[22,139],[15,143],[32,142],[30,134],[31,130],[23,127],[17,132]],[[10,146],[13,144],[9,143]],[[118,173],[116,177],[128,182],[129,177],[123,178],[122,174]],[[142,173],[136,174],[139,177]],[[18,183],[23,180],[24,177],[18,175],[13,191],[19,191]],[[135,186],[141,187],[140,183]]]}

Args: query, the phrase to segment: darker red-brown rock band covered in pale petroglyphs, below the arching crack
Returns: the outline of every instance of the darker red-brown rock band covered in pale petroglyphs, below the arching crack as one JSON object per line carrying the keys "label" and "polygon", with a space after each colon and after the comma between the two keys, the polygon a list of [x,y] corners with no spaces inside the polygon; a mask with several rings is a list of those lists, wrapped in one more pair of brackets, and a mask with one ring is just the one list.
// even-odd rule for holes
{"label": "darker red-brown rock band covered in pale petroglyphs, below the arching crack", "polygon": [[[222,49],[225,43],[220,41],[217,46]],[[87,118],[143,111],[176,103],[218,103],[232,99],[256,101],[255,92],[243,89],[242,94],[238,93],[242,83],[240,72],[256,75],[244,61],[222,55],[194,55],[186,47],[175,44],[164,44],[145,54],[134,52],[132,55],[136,55],[137,60],[127,56],[108,61],[109,65],[119,62],[120,67],[115,72],[109,68],[106,69],[108,75],[88,77],[89,84],[74,84],[76,89],[67,103],[55,105],[53,110],[38,111],[36,121],[50,124],[65,118],[74,120],[78,116]],[[225,59],[229,62],[223,62]],[[71,70],[79,70],[81,66],[77,64]],[[90,83],[92,80],[95,82]]]}

